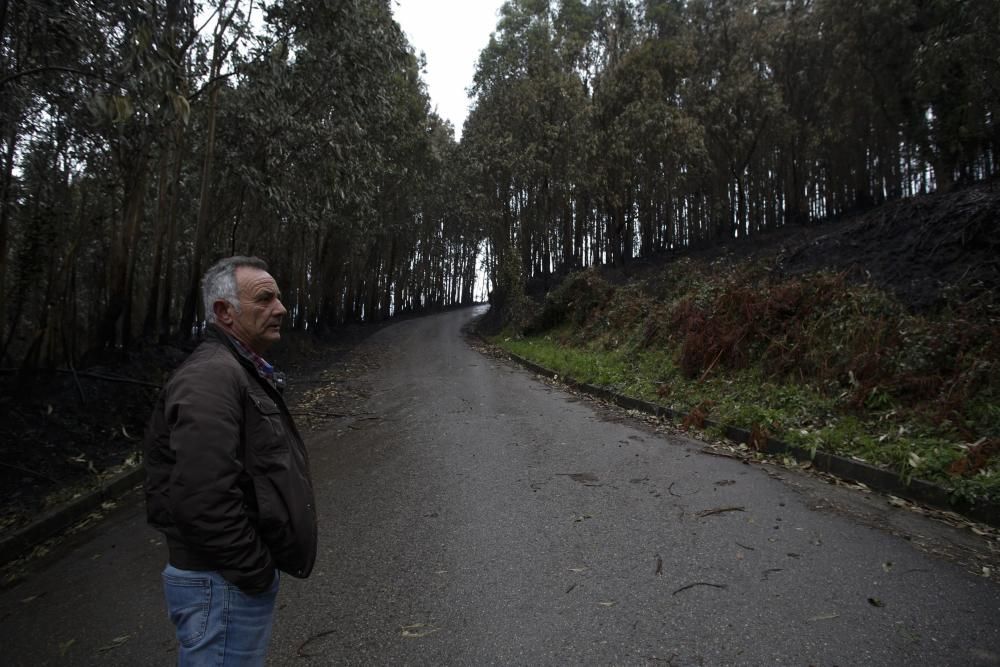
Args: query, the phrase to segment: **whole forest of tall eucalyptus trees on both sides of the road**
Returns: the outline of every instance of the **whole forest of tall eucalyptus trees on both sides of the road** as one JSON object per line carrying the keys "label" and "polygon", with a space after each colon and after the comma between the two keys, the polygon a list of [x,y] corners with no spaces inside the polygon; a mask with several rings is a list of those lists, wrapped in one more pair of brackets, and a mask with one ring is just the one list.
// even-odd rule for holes
{"label": "whole forest of tall eucalyptus trees on both sides of the road", "polygon": [[[447,20],[442,17],[441,20]],[[1000,171],[995,0],[510,0],[461,141],[391,0],[0,1],[0,365],[287,327],[819,223]]]}

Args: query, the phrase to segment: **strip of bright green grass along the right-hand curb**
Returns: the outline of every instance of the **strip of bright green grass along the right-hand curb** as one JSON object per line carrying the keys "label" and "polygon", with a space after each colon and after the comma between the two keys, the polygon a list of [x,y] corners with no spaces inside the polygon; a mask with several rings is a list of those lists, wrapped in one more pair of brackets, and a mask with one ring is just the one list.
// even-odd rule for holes
{"label": "strip of bright green grass along the right-hand curb", "polygon": [[707,407],[707,416],[727,426],[763,429],[778,440],[889,468],[905,479],[923,478],[969,499],[1000,500],[995,471],[955,478],[948,468],[960,458],[957,434],[947,427],[901,420],[892,411],[856,413],[808,386],[778,384],[759,373],[685,379],[666,352],[630,354],[558,343],[552,336],[493,341],[504,349],[572,378],[611,388],[681,413]]}

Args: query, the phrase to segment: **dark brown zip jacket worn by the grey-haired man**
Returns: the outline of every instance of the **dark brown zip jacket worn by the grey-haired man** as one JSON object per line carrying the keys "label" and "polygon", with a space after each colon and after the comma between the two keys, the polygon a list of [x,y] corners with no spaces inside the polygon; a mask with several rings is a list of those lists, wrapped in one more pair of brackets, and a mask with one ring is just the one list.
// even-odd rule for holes
{"label": "dark brown zip jacket worn by the grey-haired man", "polygon": [[309,576],[305,445],[281,394],[214,326],[160,393],[144,450],[147,517],[174,567],[217,570],[247,593],[267,590],[275,568]]}

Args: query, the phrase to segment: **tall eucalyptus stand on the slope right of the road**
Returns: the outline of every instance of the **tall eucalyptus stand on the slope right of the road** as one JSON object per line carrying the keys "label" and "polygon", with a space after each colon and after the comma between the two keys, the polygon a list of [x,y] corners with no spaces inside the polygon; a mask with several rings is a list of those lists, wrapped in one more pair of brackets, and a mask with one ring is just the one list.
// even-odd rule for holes
{"label": "tall eucalyptus stand on the slope right of the road", "polygon": [[988,179],[998,27],[986,0],[512,0],[476,214],[530,284]]}

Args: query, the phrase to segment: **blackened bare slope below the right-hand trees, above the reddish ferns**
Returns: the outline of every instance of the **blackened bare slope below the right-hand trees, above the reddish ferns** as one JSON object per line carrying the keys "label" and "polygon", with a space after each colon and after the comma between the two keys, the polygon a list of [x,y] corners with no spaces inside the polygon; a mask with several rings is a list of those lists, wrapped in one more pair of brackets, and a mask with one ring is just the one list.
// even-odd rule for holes
{"label": "blackened bare slope below the right-hand trees, above the reddish ferns", "polygon": [[776,277],[819,271],[871,283],[914,310],[968,303],[1000,287],[1000,182],[896,200],[838,220],[638,259],[604,275],[620,283],[689,257],[754,260]]}

